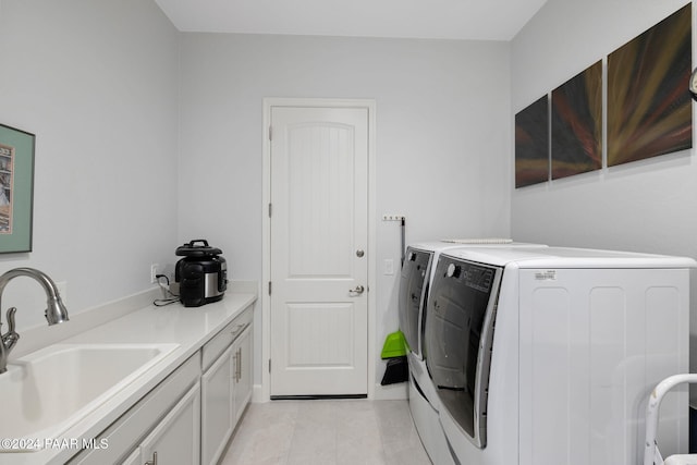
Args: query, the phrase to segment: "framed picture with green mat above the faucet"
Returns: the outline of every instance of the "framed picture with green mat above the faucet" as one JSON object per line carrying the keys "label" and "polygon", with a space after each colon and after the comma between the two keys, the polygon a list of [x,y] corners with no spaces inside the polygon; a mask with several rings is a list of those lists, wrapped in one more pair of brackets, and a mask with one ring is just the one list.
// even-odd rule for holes
{"label": "framed picture with green mat above the faucet", "polygon": [[0,254],[32,252],[35,139],[0,124]]}

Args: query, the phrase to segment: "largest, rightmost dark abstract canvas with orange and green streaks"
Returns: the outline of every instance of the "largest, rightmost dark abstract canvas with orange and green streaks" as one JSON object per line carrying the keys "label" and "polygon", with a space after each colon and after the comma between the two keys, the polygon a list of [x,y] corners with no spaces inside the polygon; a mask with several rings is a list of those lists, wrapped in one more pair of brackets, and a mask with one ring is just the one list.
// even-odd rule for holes
{"label": "largest, rightmost dark abstract canvas with orange and green streaks", "polygon": [[693,146],[692,4],[608,56],[608,166]]}

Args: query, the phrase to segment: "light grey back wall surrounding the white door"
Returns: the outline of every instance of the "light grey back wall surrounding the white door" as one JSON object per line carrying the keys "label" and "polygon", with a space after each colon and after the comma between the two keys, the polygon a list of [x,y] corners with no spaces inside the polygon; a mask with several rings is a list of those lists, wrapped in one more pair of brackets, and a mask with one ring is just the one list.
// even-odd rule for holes
{"label": "light grey back wall surrounding the white door", "polygon": [[[222,248],[232,279],[261,279],[265,97],[376,100],[377,215],[405,215],[408,242],[508,235],[508,42],[223,34],[181,40],[180,242],[206,237]],[[399,264],[400,256],[398,223],[378,221],[378,272],[383,259]],[[398,328],[396,277],[377,277],[378,348]],[[379,381],[383,364],[377,366]]]}

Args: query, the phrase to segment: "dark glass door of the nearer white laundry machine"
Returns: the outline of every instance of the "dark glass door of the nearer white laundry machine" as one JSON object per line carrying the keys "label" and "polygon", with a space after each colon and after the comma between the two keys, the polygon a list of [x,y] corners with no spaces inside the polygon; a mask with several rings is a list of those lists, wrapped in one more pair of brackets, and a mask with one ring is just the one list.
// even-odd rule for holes
{"label": "dark glass door of the nearer white laundry machine", "polygon": [[487,391],[502,270],[441,255],[426,314],[426,364],[441,405],[486,446]]}

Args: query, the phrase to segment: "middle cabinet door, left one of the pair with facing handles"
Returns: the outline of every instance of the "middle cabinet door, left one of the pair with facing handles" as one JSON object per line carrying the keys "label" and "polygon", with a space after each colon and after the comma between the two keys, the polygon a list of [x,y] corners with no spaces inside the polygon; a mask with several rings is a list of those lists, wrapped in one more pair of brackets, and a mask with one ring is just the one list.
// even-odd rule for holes
{"label": "middle cabinet door, left one of the pair with facing handles", "polygon": [[234,428],[234,346],[201,377],[201,464],[217,463]]}

